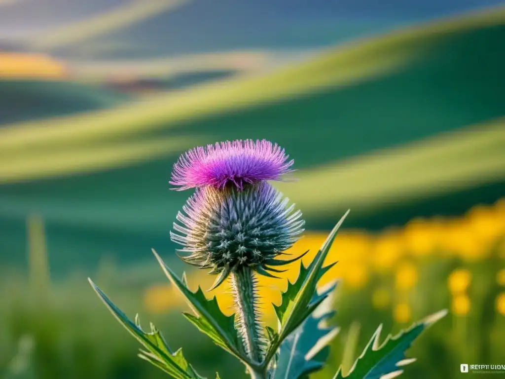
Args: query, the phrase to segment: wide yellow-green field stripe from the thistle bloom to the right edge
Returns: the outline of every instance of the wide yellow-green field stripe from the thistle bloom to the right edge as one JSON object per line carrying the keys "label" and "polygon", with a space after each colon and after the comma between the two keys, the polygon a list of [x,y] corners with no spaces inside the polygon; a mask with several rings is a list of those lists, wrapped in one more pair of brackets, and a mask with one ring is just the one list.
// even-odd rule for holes
{"label": "wide yellow-green field stripe from the thistle bloom to the right edge", "polygon": [[297,171],[295,183],[276,186],[307,216],[384,204],[505,179],[505,118],[440,134],[396,149]]}

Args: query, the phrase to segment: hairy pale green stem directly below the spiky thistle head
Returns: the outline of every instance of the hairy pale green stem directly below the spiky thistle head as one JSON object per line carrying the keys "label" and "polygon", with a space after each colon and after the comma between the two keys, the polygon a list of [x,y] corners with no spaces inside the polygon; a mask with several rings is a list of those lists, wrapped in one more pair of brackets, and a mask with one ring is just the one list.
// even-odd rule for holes
{"label": "hairy pale green stem directly below the spiky thistle head", "polygon": [[237,326],[248,357],[256,362],[263,358],[263,328],[257,309],[256,279],[249,267],[241,267],[231,273]]}

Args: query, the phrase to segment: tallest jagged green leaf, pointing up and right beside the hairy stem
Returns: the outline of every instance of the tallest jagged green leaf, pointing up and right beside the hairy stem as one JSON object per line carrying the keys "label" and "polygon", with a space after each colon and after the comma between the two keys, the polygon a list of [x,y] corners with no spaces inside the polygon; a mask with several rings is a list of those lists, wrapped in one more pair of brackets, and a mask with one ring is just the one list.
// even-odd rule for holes
{"label": "tallest jagged green leaf, pointing up and right beside the hairy stem", "polygon": [[279,320],[279,338],[275,344],[271,344],[269,347],[266,357],[267,363],[277,351],[279,344],[328,296],[328,294],[317,295],[316,287],[319,279],[334,265],[332,263],[323,267],[323,262],[335,240],[338,229],[348,214],[349,211],[335,225],[311,264],[308,267],[305,267],[303,263],[300,264],[298,278],[294,283],[288,281],[286,291],[281,294],[281,304],[274,305]]}

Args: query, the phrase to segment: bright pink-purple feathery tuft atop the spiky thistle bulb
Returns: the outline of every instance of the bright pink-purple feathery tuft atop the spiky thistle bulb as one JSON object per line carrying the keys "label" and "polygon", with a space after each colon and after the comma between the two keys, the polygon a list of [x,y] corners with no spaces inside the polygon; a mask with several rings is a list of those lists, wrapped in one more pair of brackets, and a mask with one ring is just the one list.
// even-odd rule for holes
{"label": "bright pink-purple feathery tuft atop the spiky thistle bulb", "polygon": [[284,149],[265,139],[235,140],[197,147],[179,157],[174,165],[170,184],[179,191],[193,187],[212,186],[223,189],[235,185],[244,189],[247,183],[282,180],[291,172]]}

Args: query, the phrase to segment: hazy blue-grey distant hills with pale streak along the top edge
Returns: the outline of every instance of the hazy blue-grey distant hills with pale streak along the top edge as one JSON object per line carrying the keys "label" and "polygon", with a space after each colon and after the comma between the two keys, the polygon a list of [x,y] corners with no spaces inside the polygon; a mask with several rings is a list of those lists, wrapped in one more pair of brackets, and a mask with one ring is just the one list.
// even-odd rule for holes
{"label": "hazy blue-grey distant hills with pale streak along the top edge", "polygon": [[102,59],[315,48],[500,4],[500,0],[23,0],[4,6],[0,2],[0,40],[26,41],[32,48],[67,58]]}

